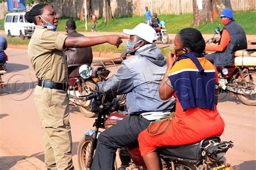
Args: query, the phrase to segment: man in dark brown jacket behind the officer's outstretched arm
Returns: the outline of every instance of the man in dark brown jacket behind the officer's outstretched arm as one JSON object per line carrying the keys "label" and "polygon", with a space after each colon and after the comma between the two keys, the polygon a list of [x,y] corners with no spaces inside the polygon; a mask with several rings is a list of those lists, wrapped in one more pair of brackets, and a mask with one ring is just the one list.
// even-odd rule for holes
{"label": "man in dark brown jacket behind the officer's outstretched arm", "polygon": [[[78,33],[76,31],[76,23],[73,19],[69,19],[66,22],[66,35],[69,37],[82,37],[84,35]],[[64,50],[66,56],[66,64],[68,66],[69,78],[79,77],[78,70],[79,67],[83,64],[92,63],[92,48],[91,47],[83,47],[83,48],[75,48],[69,47]],[[75,80],[75,79],[74,79]],[[70,81],[69,86],[72,87],[73,82]]]}

